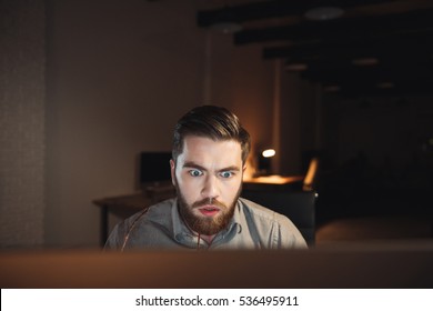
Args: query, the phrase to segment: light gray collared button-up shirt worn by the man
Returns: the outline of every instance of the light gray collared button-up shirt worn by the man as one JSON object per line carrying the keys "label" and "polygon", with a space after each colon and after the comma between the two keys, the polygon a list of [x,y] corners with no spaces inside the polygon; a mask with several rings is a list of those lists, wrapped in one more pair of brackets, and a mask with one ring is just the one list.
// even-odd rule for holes
{"label": "light gray collared button-up shirt worn by the man", "polygon": [[182,221],[177,199],[150,207],[117,224],[105,249],[304,249],[306,242],[285,215],[240,198],[229,225],[212,243]]}

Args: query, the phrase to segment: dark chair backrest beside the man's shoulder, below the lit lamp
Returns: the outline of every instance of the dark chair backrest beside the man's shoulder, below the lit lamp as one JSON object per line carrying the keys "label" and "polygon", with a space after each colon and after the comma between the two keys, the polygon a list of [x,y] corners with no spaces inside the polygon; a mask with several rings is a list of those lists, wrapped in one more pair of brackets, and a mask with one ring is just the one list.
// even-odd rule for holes
{"label": "dark chair backrest beside the man's shoulder, below the lit lamp", "polygon": [[306,243],[315,242],[315,201],[314,191],[242,191],[242,198],[259,203],[278,213],[286,215],[301,231]]}

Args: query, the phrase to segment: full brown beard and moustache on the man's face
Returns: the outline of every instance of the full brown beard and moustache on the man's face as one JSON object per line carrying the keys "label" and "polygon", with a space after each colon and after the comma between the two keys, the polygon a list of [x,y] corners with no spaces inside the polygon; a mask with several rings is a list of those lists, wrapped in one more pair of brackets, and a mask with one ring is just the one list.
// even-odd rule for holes
{"label": "full brown beard and moustache on the man's face", "polygon": [[212,199],[212,205],[220,209],[219,214],[215,217],[200,217],[194,214],[193,210],[209,204],[210,198],[204,198],[203,200],[197,201],[190,205],[187,203],[187,200],[178,185],[178,181],[175,182],[174,187],[178,194],[179,213],[181,214],[183,221],[192,231],[204,235],[216,234],[228,227],[230,220],[233,218],[234,208],[242,191],[241,183],[233,201],[229,205]]}

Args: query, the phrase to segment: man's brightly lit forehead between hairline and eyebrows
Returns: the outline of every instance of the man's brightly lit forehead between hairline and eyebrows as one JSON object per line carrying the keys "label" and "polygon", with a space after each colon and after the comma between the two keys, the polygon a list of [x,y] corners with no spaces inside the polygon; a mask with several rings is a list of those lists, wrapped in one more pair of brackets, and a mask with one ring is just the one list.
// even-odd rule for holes
{"label": "man's brightly lit forehead between hairline and eyebrows", "polygon": [[188,136],[183,141],[181,161],[198,161],[201,164],[224,163],[239,165],[242,162],[241,143],[235,140],[212,140],[210,138]]}

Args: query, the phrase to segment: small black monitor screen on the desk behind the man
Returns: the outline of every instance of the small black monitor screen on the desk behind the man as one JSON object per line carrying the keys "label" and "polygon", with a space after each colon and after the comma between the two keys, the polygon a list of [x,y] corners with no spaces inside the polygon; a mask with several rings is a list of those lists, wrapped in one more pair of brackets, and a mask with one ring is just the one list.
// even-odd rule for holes
{"label": "small black monitor screen on the desk behind the man", "polygon": [[140,154],[140,183],[152,184],[171,180],[170,173],[171,151],[141,152]]}

